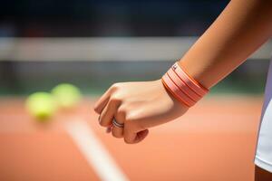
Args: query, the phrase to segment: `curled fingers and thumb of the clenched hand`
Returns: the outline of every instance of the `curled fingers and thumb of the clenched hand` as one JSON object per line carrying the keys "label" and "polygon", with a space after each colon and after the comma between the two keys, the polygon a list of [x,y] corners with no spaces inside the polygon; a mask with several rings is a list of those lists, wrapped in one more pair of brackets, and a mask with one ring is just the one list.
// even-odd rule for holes
{"label": "curled fingers and thumb of the clenched hand", "polygon": [[[133,109],[124,102],[123,95],[118,91],[118,85],[121,84],[112,85],[102,95],[95,103],[94,110],[100,114],[100,125],[107,128],[107,133],[112,132],[114,138],[123,138],[128,144],[139,143],[147,137],[149,130],[143,129],[140,126],[140,121],[137,121],[138,119],[133,118],[133,121],[126,119],[126,115],[131,113]],[[113,119],[117,123],[123,124],[123,128],[118,124],[112,124]]]}

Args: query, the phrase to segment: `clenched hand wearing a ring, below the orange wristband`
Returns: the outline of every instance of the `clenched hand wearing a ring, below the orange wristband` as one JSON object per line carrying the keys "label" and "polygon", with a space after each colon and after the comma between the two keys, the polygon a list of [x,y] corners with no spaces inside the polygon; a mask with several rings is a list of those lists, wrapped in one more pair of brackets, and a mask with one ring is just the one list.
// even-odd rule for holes
{"label": "clenched hand wearing a ring, below the orange wristband", "polygon": [[[166,90],[160,80],[115,83],[94,106],[100,125],[112,128],[112,136],[126,143],[138,143],[149,128],[176,119],[188,108]],[[112,125],[112,119],[124,124]]]}

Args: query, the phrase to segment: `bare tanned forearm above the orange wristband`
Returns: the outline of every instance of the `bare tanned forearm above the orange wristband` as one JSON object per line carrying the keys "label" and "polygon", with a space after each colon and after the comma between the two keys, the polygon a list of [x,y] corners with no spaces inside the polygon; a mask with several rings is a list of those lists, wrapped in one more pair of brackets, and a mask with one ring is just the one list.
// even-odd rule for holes
{"label": "bare tanned forearm above the orange wristband", "polygon": [[271,0],[233,0],[179,64],[210,88],[244,62],[271,34]]}

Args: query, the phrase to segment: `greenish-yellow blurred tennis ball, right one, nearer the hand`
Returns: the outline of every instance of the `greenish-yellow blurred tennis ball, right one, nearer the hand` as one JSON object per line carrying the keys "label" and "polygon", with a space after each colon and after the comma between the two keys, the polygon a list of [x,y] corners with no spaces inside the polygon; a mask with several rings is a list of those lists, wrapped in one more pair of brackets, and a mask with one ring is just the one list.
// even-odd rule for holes
{"label": "greenish-yellow blurred tennis ball, right one, nearer the hand", "polygon": [[62,83],[53,88],[52,94],[62,108],[73,108],[82,98],[81,91],[72,84]]}

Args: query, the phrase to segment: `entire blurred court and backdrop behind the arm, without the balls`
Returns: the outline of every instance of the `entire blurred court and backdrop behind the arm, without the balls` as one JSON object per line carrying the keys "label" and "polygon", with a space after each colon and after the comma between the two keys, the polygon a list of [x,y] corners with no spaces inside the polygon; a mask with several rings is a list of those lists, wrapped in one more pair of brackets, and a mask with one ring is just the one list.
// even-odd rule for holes
{"label": "entire blurred court and backdrop behind the arm, without the balls", "polygon": [[[253,180],[271,41],[180,121],[135,146],[105,134],[92,110],[114,82],[160,79],[226,5],[1,1],[0,180]],[[25,98],[62,82],[80,88],[83,100],[48,124],[35,121]]]}

